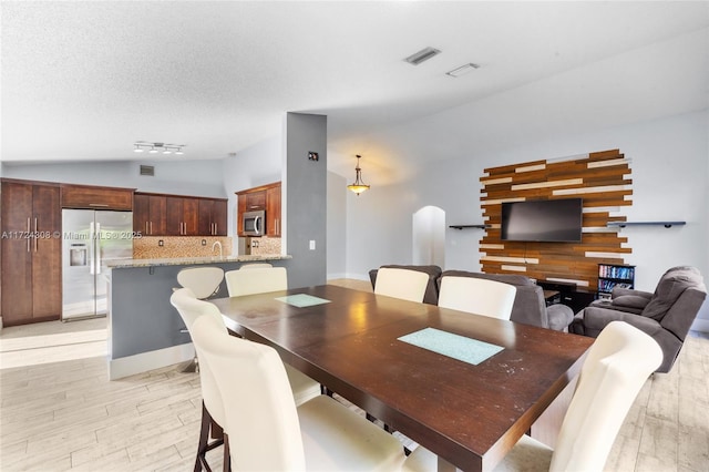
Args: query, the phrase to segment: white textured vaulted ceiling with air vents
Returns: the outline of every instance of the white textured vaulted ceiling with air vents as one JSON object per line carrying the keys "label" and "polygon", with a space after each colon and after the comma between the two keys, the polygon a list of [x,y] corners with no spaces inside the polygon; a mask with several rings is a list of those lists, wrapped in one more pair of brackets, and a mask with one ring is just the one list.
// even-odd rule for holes
{"label": "white textured vaulted ceiling with air vents", "polygon": [[[621,79],[638,93],[644,76],[671,72],[641,55],[656,43],[670,44],[669,63],[686,52],[693,79],[655,114],[708,105],[708,2],[2,1],[1,17],[4,162],[133,160],[135,141],[222,158],[279,133],[286,112],[327,114],[329,142],[345,148],[543,80],[573,90],[574,71],[613,58],[636,58]],[[427,45],[443,52],[403,61]],[[466,62],[481,68],[444,74]],[[618,78],[585,75],[586,96],[617,93]]]}

